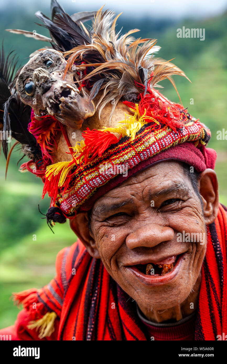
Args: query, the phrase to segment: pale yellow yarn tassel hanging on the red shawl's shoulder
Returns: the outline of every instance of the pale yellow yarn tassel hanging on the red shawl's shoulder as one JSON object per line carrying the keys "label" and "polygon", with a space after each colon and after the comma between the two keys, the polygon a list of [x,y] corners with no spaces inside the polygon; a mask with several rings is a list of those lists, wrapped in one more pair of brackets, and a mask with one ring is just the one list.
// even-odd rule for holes
{"label": "pale yellow yarn tassel hanging on the red shawl's shoulder", "polygon": [[56,312],[47,312],[42,318],[37,321],[30,321],[27,325],[28,329],[36,329],[39,330],[39,339],[43,339],[43,337],[51,336],[54,332],[54,321],[57,317]]}

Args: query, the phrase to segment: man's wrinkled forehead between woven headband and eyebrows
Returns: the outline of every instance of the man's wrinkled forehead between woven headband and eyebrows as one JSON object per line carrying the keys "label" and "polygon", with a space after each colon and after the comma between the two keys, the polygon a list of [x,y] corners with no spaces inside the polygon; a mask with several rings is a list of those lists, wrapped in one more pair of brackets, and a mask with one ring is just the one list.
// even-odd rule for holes
{"label": "man's wrinkled forehead between woven headband and eyebrows", "polygon": [[107,183],[103,193],[96,194],[93,203],[87,201],[81,210],[99,210],[100,206],[103,209],[107,203],[117,206],[119,203],[122,206],[125,203],[137,204],[138,201],[151,201],[170,193],[179,193],[183,197],[191,195],[193,191],[191,182],[185,176],[182,162],[174,159],[151,163],[136,173],[122,169],[122,174],[118,177],[118,181],[116,179],[115,182],[113,180]]}

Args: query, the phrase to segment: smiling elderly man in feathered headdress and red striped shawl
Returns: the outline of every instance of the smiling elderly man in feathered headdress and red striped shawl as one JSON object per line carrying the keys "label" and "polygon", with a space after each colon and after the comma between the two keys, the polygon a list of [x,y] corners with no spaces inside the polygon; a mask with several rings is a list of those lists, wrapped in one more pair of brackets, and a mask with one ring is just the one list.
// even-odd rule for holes
{"label": "smiling elderly man in feathered headdress and red striped shawl", "polygon": [[[55,17],[42,20],[52,32],[53,24],[65,29]],[[227,216],[216,153],[206,147],[210,131],[154,90],[183,72],[148,57],[154,41],[119,40],[112,17],[98,11],[93,32],[83,26],[90,40],[68,49],[58,42],[18,76],[20,100],[38,100],[28,129],[42,153],[37,160],[25,147],[31,161],[22,169],[43,179],[52,199],[48,223],[69,218],[79,239],[59,252],[50,284],[14,294],[24,308],[1,333],[14,340],[217,340],[227,332]],[[67,62],[58,50],[67,50]],[[90,93],[81,96],[86,110],[75,98],[82,88]]]}

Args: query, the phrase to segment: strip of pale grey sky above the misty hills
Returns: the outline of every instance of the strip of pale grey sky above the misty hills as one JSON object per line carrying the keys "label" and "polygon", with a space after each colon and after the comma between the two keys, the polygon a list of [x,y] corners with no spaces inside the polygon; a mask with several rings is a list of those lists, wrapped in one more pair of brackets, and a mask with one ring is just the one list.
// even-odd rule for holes
{"label": "strip of pale grey sky above the misty hills", "polygon": [[[222,13],[227,9],[226,0],[59,0],[66,12],[75,9],[97,10],[103,4],[105,9],[113,9],[117,13],[124,12],[125,15],[134,16],[153,15],[156,17],[210,17]],[[22,6],[27,11],[50,8],[50,1],[39,0],[0,0],[0,8],[11,8],[16,5]],[[69,11],[70,12],[70,11]],[[71,14],[70,14],[71,15]]]}

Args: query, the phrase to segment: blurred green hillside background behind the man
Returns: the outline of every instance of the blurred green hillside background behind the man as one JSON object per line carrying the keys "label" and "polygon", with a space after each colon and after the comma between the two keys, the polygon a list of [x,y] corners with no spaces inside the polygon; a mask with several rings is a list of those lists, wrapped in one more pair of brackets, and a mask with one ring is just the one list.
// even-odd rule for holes
{"label": "blurred green hillside background behind the man", "polygon": [[[179,1],[180,4],[180,1]],[[108,5],[108,4],[107,4]],[[108,6],[106,6],[107,8]],[[70,14],[78,11],[75,4],[69,2],[64,8]],[[98,8],[93,6],[90,10]],[[1,11],[1,38],[5,50],[15,50],[21,65],[36,49],[47,43],[4,32],[6,28],[19,28],[48,36],[46,29],[34,24],[38,19],[35,11],[41,10],[50,16],[50,11],[33,4],[28,8],[4,7]],[[39,21],[38,21],[39,23]],[[158,56],[174,59],[192,83],[180,76],[175,77],[177,89],[184,107],[191,115],[210,127],[212,138],[209,146],[218,154],[216,173],[219,179],[220,202],[227,205],[227,141],[217,140],[218,130],[226,127],[227,95],[227,13],[218,16],[175,19],[171,17],[157,19],[149,13],[146,17],[127,17],[125,11],[118,19],[118,29],[141,29],[137,36],[157,38],[161,46]],[[204,41],[198,38],[177,38],[177,28],[205,28]],[[178,102],[178,96],[169,82],[163,82],[161,90],[169,99]],[[193,99],[193,104],[190,100]],[[227,128],[226,128],[227,130]],[[12,141],[13,143],[13,141]],[[12,145],[11,143],[11,145]],[[40,288],[55,275],[55,257],[64,246],[73,244],[76,237],[71,232],[69,223],[55,225],[54,233],[48,228],[46,220],[41,219],[41,211],[46,213],[49,200],[41,199],[43,183],[31,173],[19,173],[22,162],[20,151],[12,153],[7,180],[5,181],[5,159],[0,157],[0,328],[13,324],[18,309],[9,301],[12,292],[24,289]]]}

